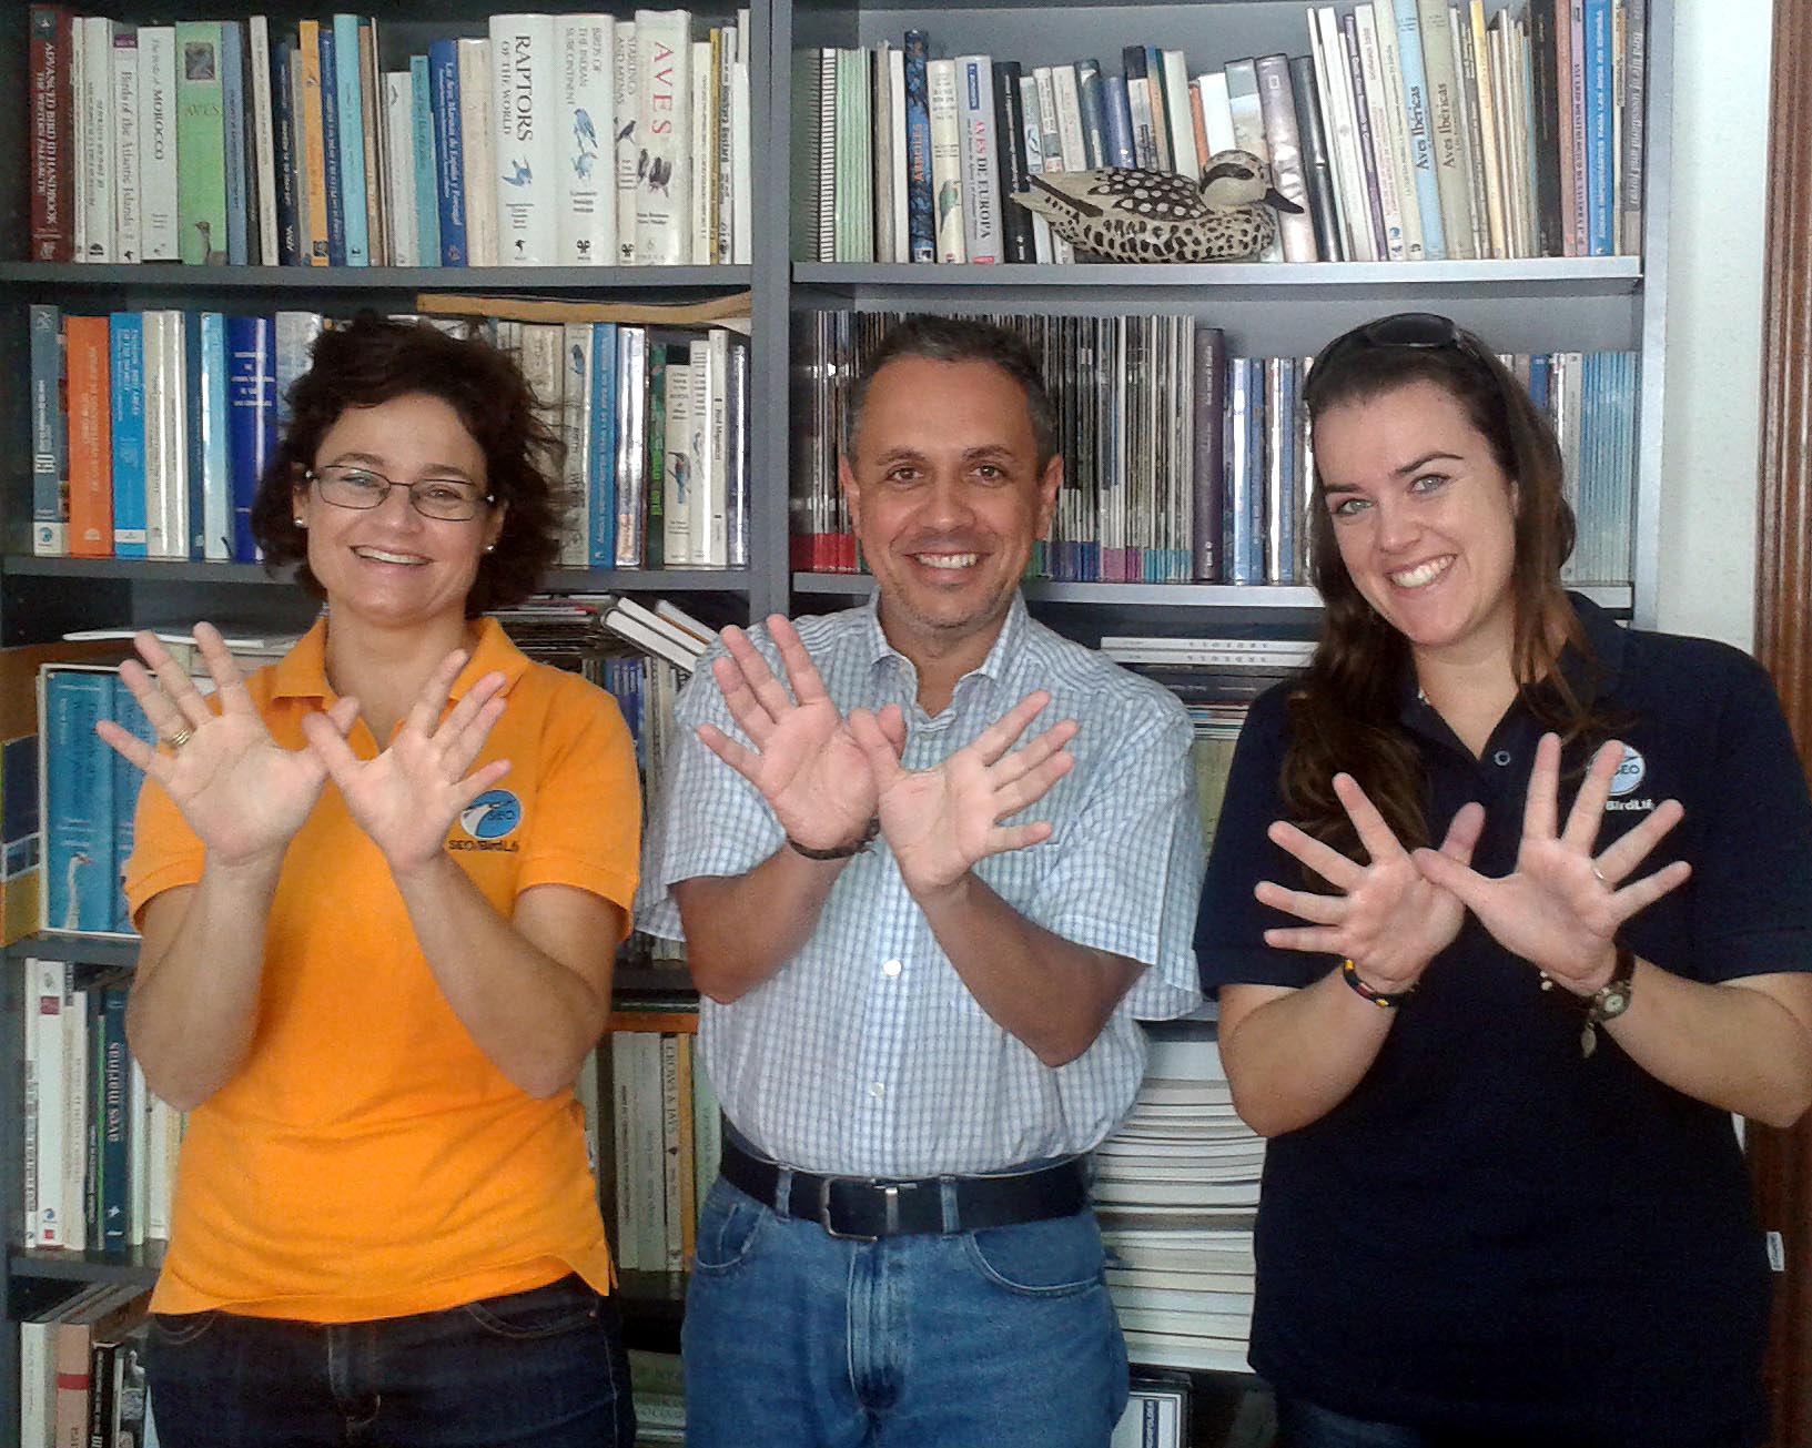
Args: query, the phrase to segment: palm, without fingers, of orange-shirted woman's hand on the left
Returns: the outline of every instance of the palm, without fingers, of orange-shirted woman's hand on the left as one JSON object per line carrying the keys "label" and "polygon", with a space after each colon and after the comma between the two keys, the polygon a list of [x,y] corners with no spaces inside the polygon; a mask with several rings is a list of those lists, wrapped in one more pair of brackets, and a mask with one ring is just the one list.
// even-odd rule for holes
{"label": "palm, without fingers, of orange-shirted woman's hand on the left", "polygon": [[176,750],[165,788],[208,852],[234,863],[288,845],[324,779],[312,750],[283,748],[255,714],[226,712]]}

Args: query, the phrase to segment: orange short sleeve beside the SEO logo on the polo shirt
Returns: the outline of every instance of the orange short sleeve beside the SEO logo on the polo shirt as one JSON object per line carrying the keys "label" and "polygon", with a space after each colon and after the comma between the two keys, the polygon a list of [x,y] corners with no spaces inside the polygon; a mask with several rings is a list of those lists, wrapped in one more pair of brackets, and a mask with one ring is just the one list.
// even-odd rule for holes
{"label": "orange short sleeve beside the SEO logo on the polo shirt", "polygon": [[535,825],[524,843],[516,890],[571,884],[627,915],[641,854],[641,788],[636,748],[616,700],[564,676],[542,729]]}

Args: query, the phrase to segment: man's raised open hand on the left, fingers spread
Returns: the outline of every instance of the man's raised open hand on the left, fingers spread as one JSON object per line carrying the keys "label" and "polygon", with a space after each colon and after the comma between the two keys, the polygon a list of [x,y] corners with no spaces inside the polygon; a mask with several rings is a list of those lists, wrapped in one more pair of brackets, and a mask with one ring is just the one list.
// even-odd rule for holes
{"label": "man's raised open hand on the left, fingers spread", "polygon": [[[730,718],[754,748],[716,725],[699,725],[698,738],[761,790],[788,839],[814,850],[848,845],[875,817],[875,781],[868,759],[824,692],[824,680],[797,629],[774,614],[768,632],[779,649],[786,683],[774,676],[761,651],[736,627],[723,631],[730,652],[714,665]],[[899,709],[882,710],[879,729],[897,759],[906,747],[906,719]]]}

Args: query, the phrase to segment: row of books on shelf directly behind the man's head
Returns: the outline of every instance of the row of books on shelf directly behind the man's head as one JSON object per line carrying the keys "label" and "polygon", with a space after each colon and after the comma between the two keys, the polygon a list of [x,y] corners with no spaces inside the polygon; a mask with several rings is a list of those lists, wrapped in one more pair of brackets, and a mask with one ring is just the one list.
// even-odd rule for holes
{"label": "row of books on shelf directly behind the man's head", "polygon": [[[899,314],[819,312],[795,328],[806,395],[792,487],[792,565],[859,567],[837,484],[850,381]],[[1308,359],[1238,357],[1187,315],[989,317],[1020,332],[1056,410],[1064,487],[1029,574],[1071,582],[1303,584],[1314,457]],[[1578,518],[1569,582],[1631,569],[1638,359],[1506,359],[1555,422]]]}

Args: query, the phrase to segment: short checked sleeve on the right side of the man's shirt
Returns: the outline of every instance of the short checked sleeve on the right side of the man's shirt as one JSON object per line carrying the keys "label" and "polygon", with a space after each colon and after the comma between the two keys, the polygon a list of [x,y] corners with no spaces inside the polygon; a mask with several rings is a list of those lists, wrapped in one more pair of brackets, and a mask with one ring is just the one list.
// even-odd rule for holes
{"label": "short checked sleeve on the right side of the man's shirt", "polygon": [[1201,812],[1181,705],[1163,700],[1152,723],[1094,756],[1082,808],[1051,841],[1055,863],[1027,917],[1145,970],[1120,1002],[1140,1020],[1201,1004],[1189,946],[1201,883]]}

